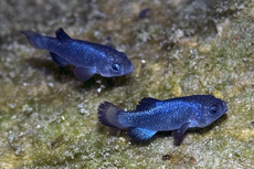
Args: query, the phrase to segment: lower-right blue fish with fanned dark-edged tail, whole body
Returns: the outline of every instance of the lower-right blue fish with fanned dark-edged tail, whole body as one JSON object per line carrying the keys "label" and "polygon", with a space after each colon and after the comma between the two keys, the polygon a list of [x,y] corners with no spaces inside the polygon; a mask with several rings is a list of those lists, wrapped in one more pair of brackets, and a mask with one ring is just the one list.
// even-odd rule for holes
{"label": "lower-right blue fish with fanned dark-edged tail, whole body", "polygon": [[98,120],[124,129],[135,140],[150,139],[157,131],[173,130],[180,140],[188,128],[203,128],[227,112],[224,101],[212,95],[192,95],[159,101],[142,98],[135,110],[125,112],[109,102],[98,106]]}

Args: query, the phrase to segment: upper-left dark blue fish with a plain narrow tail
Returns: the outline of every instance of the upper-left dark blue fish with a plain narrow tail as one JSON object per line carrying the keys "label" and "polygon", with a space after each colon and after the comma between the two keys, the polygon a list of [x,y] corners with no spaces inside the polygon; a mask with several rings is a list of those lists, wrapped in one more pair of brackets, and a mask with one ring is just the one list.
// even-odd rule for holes
{"label": "upper-left dark blue fish with a plain narrow tail", "polygon": [[44,36],[33,31],[21,31],[35,49],[47,50],[60,66],[75,65],[74,74],[81,81],[94,74],[104,77],[121,76],[134,71],[133,63],[125,53],[110,46],[70,38],[62,28],[56,38]]}

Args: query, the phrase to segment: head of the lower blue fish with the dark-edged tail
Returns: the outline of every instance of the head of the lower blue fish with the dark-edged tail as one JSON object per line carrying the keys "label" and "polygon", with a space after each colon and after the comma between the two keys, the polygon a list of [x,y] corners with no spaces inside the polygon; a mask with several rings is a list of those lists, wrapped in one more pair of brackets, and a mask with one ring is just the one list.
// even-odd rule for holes
{"label": "head of the lower blue fish with the dark-edged tail", "polygon": [[202,108],[195,114],[197,127],[212,124],[229,110],[224,101],[212,95],[203,95],[203,98],[200,98],[200,104]]}

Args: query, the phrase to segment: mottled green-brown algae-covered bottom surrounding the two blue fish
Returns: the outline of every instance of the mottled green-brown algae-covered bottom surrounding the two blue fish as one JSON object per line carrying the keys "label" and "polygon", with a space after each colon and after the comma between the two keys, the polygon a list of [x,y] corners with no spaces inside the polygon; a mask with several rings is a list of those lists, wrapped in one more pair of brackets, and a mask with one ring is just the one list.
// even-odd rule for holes
{"label": "mottled green-brown algae-covered bottom surrounding the two blue fish", "polygon": [[[222,2],[216,8],[216,3]],[[253,1],[0,1],[0,168],[252,168]],[[138,12],[150,8],[148,18]],[[78,82],[20,30],[112,43],[133,74]],[[134,109],[142,97],[213,94],[227,116],[188,131],[134,142],[97,122],[109,101]],[[169,159],[162,160],[162,156]]]}

